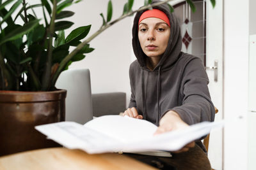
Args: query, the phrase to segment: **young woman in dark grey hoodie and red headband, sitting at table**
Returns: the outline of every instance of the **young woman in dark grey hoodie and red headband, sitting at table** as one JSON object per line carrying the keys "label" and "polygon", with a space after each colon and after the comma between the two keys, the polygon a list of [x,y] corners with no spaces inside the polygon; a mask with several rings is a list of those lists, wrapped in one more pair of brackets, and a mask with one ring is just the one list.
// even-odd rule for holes
{"label": "young woman in dark grey hoodie and red headband, sitting at table", "polygon": [[[198,57],[180,52],[179,22],[168,5],[136,13],[132,46],[137,60],[129,70],[131,101],[124,115],[158,125],[156,134],[214,121],[204,64]],[[201,141],[196,144],[205,150]],[[194,145],[189,143],[179,152]]]}

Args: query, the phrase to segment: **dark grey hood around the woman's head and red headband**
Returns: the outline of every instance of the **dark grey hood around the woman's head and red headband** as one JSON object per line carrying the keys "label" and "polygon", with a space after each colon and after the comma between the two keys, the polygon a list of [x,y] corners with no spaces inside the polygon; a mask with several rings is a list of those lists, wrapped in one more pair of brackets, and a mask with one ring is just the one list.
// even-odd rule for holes
{"label": "dark grey hood around the woman's head and red headband", "polygon": [[[157,3],[159,1],[152,1],[152,4]],[[156,70],[159,66],[161,66],[161,70],[169,69],[172,65],[179,59],[179,53],[182,46],[182,39],[180,35],[180,26],[179,20],[170,12],[170,8],[168,4],[161,4],[159,6],[154,6],[154,8],[163,11],[170,20],[170,38],[168,41],[168,45],[166,47],[165,52],[163,53],[159,63],[155,67]],[[147,11],[147,10],[144,10]],[[140,46],[140,41],[138,38],[138,22],[141,14],[144,11],[138,11],[134,17],[134,22],[132,26],[132,47],[138,62],[141,67],[146,67],[146,59],[147,55],[143,52]]]}

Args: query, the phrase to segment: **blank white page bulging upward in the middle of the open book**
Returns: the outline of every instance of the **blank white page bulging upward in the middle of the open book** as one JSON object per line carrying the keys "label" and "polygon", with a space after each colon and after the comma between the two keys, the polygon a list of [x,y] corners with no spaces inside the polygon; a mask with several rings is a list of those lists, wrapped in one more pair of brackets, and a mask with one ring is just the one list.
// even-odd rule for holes
{"label": "blank white page bulging upward in the middle of the open book", "polygon": [[107,115],[90,120],[84,127],[104,133],[122,143],[131,143],[141,139],[152,138],[157,126],[138,118]]}

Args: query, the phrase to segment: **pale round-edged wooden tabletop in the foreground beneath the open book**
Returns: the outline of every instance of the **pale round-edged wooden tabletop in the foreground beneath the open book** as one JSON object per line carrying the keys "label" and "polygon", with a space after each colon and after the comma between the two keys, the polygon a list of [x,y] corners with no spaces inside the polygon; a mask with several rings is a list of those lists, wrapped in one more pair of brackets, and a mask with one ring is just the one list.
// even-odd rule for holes
{"label": "pale round-edged wooden tabletop in the foreground beneath the open book", "polygon": [[1,170],[155,169],[118,153],[89,155],[81,150],[47,148],[0,157]]}

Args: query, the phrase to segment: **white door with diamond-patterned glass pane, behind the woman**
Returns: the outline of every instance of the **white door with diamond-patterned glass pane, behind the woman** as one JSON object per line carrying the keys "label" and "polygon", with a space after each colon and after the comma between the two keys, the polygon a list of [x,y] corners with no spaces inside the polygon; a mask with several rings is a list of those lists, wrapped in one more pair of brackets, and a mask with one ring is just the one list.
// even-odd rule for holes
{"label": "white door with diamond-patterned glass pane, behind the woman", "polygon": [[[193,13],[186,1],[171,1],[174,13],[180,20],[182,51],[200,57],[207,68],[211,99],[218,114],[216,121],[223,118],[223,5],[216,1],[212,8],[210,0],[194,1]],[[211,132],[209,160],[214,169],[223,169],[223,132]]]}

